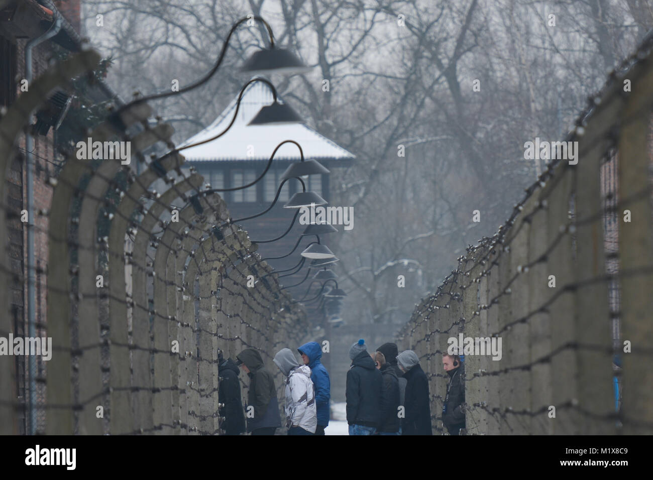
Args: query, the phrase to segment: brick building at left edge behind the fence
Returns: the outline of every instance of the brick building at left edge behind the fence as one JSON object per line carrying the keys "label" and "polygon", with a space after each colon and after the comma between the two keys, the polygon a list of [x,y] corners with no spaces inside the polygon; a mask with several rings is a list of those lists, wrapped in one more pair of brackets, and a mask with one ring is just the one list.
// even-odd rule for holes
{"label": "brick building at left edge behind the fence", "polygon": [[[27,74],[25,69],[25,48],[30,40],[37,39],[54,26],[56,14],[61,16],[61,27],[54,37],[44,40],[32,50],[32,76],[39,78],[48,65],[58,57],[80,50],[80,0],[61,0],[54,3],[49,0],[10,0],[3,3],[0,10],[0,75],[2,90],[0,93],[0,108],[7,108],[20,95],[23,80]],[[58,91],[53,93],[51,100],[63,99],[68,104],[68,98],[74,99],[76,92]],[[56,95],[59,95],[58,97]],[[97,93],[96,93],[97,95]],[[63,105],[63,104],[62,104]],[[39,119],[39,113],[33,112]],[[61,125],[72,125],[73,119],[65,116],[66,108],[59,111]],[[47,123],[47,122],[46,122]],[[70,125],[67,125],[70,124]],[[43,125],[41,125],[43,126]],[[36,336],[46,336],[44,328],[47,323],[46,276],[48,266],[48,217],[38,214],[41,210],[48,211],[52,201],[52,187],[48,178],[56,176],[63,155],[59,153],[59,138],[57,125],[45,125],[39,132],[34,131],[33,162],[33,208],[34,220],[34,258],[35,258],[35,323]],[[22,135],[16,146],[16,155],[12,161],[7,182],[7,217],[8,255],[11,268],[16,274],[16,282],[11,292],[11,304],[7,307],[12,316],[12,332],[14,336],[29,336],[27,325],[27,223],[21,221],[20,212],[27,209],[27,168],[25,136]],[[35,359],[35,395],[32,397],[36,418],[33,425],[29,423],[25,412],[29,411],[29,357],[16,356],[16,388],[18,401],[25,406],[19,413],[19,432],[21,434],[42,432],[45,413],[39,406],[45,401],[46,362],[40,356]]]}

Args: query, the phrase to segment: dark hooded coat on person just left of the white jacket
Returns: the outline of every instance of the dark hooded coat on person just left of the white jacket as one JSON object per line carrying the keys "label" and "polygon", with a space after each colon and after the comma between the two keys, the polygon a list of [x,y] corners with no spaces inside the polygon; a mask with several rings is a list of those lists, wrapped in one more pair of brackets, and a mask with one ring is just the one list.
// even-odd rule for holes
{"label": "dark hooded coat on person just left of the white jacket", "polygon": [[257,349],[246,348],[236,358],[249,368],[249,394],[247,406],[254,407],[254,417],[247,417],[247,432],[257,428],[279,427],[279,402],[274,387],[274,377],[263,366],[263,359]]}

